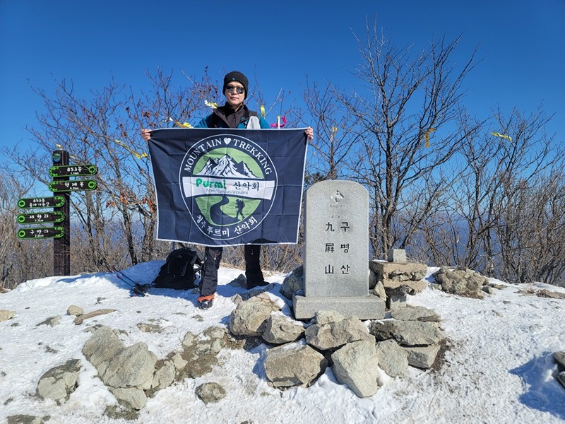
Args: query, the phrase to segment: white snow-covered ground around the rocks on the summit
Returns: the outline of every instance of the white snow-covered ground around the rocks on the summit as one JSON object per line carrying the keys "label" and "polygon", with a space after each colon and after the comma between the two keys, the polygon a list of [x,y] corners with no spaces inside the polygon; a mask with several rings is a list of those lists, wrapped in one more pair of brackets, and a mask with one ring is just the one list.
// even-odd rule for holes
{"label": "white snow-covered ground around the rocks on the summit", "polygon": [[[163,261],[151,261],[124,273],[150,283]],[[429,274],[435,271],[429,269]],[[116,404],[81,350],[88,326],[103,324],[123,331],[127,346],[143,341],[157,357],[181,349],[186,331],[227,326],[242,288],[229,285],[238,269],[220,268],[220,285],[210,310],[198,310],[197,293],[153,289],[144,298],[130,297],[129,287],[114,273],[48,277],[22,283],[0,295],[0,310],[16,312],[0,322],[0,422],[18,414],[49,416],[49,424],[126,423],[104,415]],[[290,314],[279,294],[284,274],[269,276],[273,298]],[[501,282],[498,282],[501,283]],[[223,365],[197,379],[185,379],[155,397],[135,423],[565,423],[565,388],[553,377],[552,353],[565,351],[565,300],[525,294],[540,289],[565,293],[551,285],[509,285],[482,300],[460,298],[433,288],[409,296],[441,315],[451,341],[439,371],[410,369],[406,377],[387,377],[374,396],[359,399],[338,384],[328,368],[307,389],[269,387],[262,360],[266,346],[253,351],[224,349]],[[70,305],[85,312],[115,309],[73,323]],[[42,324],[60,315],[54,326]],[[158,324],[160,333],[143,332],[139,323]],[[64,404],[35,396],[40,377],[66,360],[83,360],[78,388]],[[205,405],[195,394],[203,382],[218,382],[227,395]],[[132,421],[129,421],[132,423]]]}

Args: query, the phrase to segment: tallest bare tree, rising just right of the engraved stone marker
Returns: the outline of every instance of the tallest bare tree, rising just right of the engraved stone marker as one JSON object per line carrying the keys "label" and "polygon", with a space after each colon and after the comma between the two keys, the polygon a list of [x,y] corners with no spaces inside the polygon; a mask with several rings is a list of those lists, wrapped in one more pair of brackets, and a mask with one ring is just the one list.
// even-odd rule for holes
{"label": "tallest bare tree, rising just right of the engraved stone marker", "polygon": [[[411,47],[398,48],[379,36],[376,22],[368,24],[366,39],[357,38],[362,63],[355,75],[364,89],[351,95],[333,92],[333,102],[355,119],[346,174],[369,189],[370,237],[377,256],[410,242],[422,220],[421,215],[406,215],[415,193],[430,187],[441,192],[450,184],[446,175],[434,172],[450,160],[465,136],[449,124],[460,112],[463,79],[475,66],[473,52],[456,71],[451,56],[459,41],[432,41],[413,54]],[[434,196],[418,199],[426,210],[435,207]],[[403,214],[402,236],[395,231],[395,220]]]}

